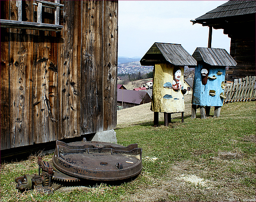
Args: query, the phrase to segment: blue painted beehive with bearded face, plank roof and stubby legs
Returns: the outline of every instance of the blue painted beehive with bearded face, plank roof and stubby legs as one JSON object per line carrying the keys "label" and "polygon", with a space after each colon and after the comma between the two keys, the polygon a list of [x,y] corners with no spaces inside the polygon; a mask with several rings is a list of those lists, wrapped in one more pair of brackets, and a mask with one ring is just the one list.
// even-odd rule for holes
{"label": "blue painted beehive with bearded face, plank roof and stubby legs", "polygon": [[220,116],[225,98],[225,67],[235,66],[236,61],[220,48],[196,48],[193,58],[197,61],[194,70],[192,115],[196,117],[196,108],[200,106],[201,118],[210,113],[214,106],[214,116]]}

